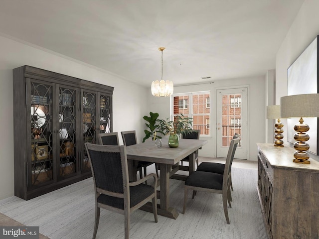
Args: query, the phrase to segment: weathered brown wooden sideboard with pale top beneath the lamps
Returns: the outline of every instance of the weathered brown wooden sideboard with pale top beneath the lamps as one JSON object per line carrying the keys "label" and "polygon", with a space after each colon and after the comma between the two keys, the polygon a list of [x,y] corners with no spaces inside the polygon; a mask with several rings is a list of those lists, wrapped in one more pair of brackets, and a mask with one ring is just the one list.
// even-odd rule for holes
{"label": "weathered brown wooden sideboard with pale top beneath the lamps", "polygon": [[293,162],[289,145],[258,146],[258,196],[271,239],[319,238],[319,162]]}

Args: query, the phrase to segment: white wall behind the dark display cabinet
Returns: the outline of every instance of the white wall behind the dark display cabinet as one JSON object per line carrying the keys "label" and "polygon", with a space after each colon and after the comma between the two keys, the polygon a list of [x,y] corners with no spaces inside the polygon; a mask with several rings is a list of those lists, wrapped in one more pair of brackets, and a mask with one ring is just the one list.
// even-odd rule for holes
{"label": "white wall behind the dark display cabinet", "polygon": [[[142,141],[144,137],[142,118],[148,114],[146,92],[149,89],[58,54],[2,36],[0,36],[0,52],[0,199],[14,195],[13,68],[30,65],[114,87],[113,131],[135,129],[138,140]],[[119,138],[122,144],[121,136]]]}

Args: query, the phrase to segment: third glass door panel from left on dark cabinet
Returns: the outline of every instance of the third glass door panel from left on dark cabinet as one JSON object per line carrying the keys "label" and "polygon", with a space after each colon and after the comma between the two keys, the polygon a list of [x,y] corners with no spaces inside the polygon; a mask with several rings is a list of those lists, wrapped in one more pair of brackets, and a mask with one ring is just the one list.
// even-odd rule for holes
{"label": "third glass door panel from left on dark cabinet", "polygon": [[84,143],[96,143],[96,93],[95,92],[82,92],[82,116],[83,116],[83,162],[82,171],[90,171],[89,158],[86,153]]}

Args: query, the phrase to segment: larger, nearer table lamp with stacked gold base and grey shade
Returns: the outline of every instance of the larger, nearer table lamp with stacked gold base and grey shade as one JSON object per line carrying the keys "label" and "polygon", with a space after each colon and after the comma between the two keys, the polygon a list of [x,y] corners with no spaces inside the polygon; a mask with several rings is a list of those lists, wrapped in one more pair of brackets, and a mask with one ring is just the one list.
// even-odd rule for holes
{"label": "larger, nearer table lamp with stacked gold base and grey shade", "polygon": [[306,141],[309,135],[306,133],[310,127],[304,123],[303,117],[319,117],[319,94],[304,94],[284,96],[280,98],[281,117],[294,118],[300,117],[299,123],[294,126],[297,133],[294,134],[294,148],[298,151],[294,153],[295,163],[309,164],[309,154],[306,152],[310,146]]}

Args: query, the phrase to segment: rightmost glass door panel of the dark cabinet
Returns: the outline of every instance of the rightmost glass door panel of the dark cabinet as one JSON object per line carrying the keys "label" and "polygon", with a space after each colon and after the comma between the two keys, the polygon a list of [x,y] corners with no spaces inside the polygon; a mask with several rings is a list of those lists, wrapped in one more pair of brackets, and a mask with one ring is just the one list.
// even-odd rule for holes
{"label": "rightmost glass door panel of the dark cabinet", "polygon": [[100,95],[100,133],[112,132],[111,117],[111,96]]}

